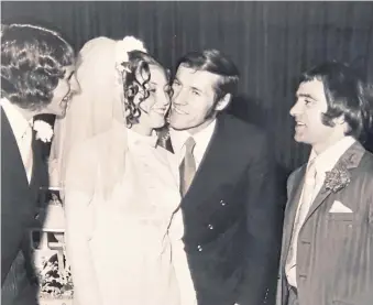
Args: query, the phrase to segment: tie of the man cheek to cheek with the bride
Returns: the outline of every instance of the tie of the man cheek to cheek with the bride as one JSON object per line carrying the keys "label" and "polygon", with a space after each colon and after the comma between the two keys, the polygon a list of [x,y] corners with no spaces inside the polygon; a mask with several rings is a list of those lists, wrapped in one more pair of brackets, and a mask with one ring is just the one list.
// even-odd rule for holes
{"label": "tie of the man cheek to cheek with the bride", "polygon": [[196,161],[193,156],[193,150],[196,145],[196,141],[189,137],[185,142],[185,157],[179,166],[180,173],[180,194],[184,197],[188,192],[191,181],[196,174]]}

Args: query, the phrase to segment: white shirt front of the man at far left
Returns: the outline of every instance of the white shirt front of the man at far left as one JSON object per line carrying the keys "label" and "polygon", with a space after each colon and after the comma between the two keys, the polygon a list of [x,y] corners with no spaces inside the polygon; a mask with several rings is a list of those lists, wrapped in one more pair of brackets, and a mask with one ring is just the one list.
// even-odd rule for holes
{"label": "white shirt front of the man at far left", "polygon": [[17,145],[20,150],[23,166],[28,175],[29,183],[31,181],[33,154],[32,154],[32,124],[8,99],[2,98],[0,105],[3,108],[9,123],[12,128]]}

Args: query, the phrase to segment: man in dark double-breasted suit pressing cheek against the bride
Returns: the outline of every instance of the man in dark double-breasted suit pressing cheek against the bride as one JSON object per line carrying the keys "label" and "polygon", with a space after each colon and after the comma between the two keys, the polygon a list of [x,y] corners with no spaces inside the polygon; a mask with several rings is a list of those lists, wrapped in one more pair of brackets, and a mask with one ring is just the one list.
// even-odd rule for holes
{"label": "man in dark double-breasted suit pressing cheek against the bride", "polygon": [[184,243],[198,305],[271,304],[282,201],[268,140],[224,113],[239,73],[219,51],[177,65],[169,116]]}

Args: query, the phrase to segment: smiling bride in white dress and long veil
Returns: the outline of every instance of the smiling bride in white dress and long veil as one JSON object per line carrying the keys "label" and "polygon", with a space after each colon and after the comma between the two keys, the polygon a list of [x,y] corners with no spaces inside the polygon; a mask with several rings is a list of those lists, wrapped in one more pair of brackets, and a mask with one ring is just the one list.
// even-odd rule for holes
{"label": "smiling bride in white dress and long veil", "polygon": [[155,132],[169,107],[166,70],[133,37],[98,37],[80,51],[77,78],[52,148],[75,304],[194,304],[173,217],[178,177]]}

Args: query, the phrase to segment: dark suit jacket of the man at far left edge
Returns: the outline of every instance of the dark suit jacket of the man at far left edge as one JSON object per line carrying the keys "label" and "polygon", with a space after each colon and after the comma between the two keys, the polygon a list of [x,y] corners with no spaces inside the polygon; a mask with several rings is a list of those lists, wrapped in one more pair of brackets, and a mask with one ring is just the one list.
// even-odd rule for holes
{"label": "dark suit jacket of the man at far left edge", "polygon": [[28,229],[34,221],[40,186],[47,186],[47,168],[33,141],[33,172],[29,185],[21,154],[1,109],[1,304],[36,304],[30,281]]}

